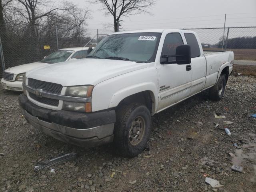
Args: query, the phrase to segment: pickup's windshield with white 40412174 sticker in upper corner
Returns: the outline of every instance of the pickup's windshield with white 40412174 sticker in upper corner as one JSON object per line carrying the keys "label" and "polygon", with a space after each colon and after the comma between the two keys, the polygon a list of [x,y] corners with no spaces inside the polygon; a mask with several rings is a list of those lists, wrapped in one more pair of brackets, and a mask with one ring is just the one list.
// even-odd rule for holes
{"label": "pickup's windshield with white 40412174 sticker in upper corner", "polygon": [[126,33],[106,36],[86,58],[154,62],[161,33]]}

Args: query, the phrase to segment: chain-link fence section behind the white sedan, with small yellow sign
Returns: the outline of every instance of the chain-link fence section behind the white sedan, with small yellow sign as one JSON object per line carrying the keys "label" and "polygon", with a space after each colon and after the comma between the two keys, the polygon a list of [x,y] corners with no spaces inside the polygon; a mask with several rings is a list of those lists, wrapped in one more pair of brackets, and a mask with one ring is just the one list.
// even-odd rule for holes
{"label": "chain-link fence section behind the white sedan, with small yellow sign", "polygon": [[[31,35],[10,34],[0,29],[0,77],[9,67],[40,61],[44,56],[62,48],[97,45],[102,38],[112,33],[110,30],[86,29],[76,37],[58,33],[58,28],[47,34]],[[67,32],[68,33],[68,32]]]}

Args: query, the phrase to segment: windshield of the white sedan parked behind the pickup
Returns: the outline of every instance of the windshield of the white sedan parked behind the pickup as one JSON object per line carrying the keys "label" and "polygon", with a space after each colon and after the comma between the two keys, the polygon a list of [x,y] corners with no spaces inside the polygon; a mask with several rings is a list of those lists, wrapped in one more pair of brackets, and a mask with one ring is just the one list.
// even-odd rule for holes
{"label": "windshield of the white sedan parked behind the pickup", "polygon": [[45,57],[42,61],[42,63],[58,63],[58,62],[64,62],[67,60],[67,58],[73,53],[74,51],[71,50],[58,50],[53,52],[52,54]]}

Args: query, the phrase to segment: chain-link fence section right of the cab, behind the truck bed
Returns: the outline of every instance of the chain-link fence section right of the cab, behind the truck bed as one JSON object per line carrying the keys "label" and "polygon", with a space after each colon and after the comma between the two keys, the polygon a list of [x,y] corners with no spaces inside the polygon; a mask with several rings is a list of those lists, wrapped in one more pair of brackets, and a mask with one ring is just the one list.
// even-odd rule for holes
{"label": "chain-link fence section right of the cab, behind the truck bed", "polygon": [[190,28],[195,31],[203,50],[232,50],[234,64],[256,66],[256,26],[228,28]]}

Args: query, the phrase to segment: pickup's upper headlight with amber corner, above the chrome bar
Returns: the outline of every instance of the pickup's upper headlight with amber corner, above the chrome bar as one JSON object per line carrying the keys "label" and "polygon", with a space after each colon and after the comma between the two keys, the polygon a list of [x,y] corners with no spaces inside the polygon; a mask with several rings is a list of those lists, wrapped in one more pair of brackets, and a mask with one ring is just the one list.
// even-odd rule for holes
{"label": "pickup's upper headlight with amber corner, above the chrome bar", "polygon": [[73,97],[91,97],[92,96],[92,85],[86,86],[70,86],[66,89],[66,96]]}

